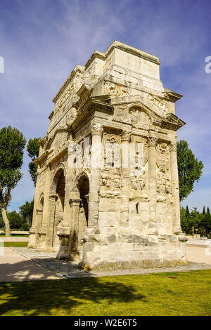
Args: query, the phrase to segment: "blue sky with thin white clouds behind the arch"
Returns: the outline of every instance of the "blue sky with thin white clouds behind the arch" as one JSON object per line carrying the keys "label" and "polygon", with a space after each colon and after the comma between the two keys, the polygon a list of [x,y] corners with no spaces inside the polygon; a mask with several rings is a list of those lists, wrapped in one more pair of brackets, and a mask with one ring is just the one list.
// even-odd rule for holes
{"label": "blue sky with thin white clouds behind the arch", "polygon": [[[186,122],[179,139],[205,166],[194,192],[182,203],[211,206],[210,0],[1,0],[0,127],[14,126],[29,138],[45,136],[52,99],[75,65],[113,40],[160,58],[165,87],[184,95],[176,103]],[[23,179],[13,190],[9,210],[34,195],[25,152]]]}

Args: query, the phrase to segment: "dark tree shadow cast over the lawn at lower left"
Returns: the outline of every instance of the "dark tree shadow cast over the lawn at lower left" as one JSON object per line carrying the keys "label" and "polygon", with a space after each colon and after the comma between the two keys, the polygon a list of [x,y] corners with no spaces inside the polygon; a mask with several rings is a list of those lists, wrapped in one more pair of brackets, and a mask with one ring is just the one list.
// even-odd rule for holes
{"label": "dark tree shadow cast over the lawn at lower left", "polygon": [[[51,279],[48,281],[26,281],[34,270],[26,261],[16,263],[16,268],[25,272],[23,282],[0,283],[0,315],[71,315],[72,310],[82,308],[82,315],[99,315],[94,308],[98,304],[146,301],[137,293],[135,286],[122,282],[118,277],[83,277],[75,279]],[[2,266],[2,265],[1,265]],[[0,272],[3,270],[0,266]],[[12,266],[12,265],[11,265]],[[8,265],[7,265],[8,267]],[[39,279],[43,268],[37,272]],[[17,276],[8,270],[8,281]],[[52,274],[52,273],[51,273]],[[100,314],[101,315],[101,314]]]}

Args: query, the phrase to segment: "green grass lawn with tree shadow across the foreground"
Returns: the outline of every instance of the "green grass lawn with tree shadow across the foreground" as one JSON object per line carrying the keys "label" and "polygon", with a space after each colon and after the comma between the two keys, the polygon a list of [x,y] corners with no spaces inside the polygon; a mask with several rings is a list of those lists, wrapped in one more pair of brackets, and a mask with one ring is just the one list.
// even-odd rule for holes
{"label": "green grass lawn with tree shadow across the foreground", "polygon": [[211,270],[0,283],[0,315],[211,315]]}

